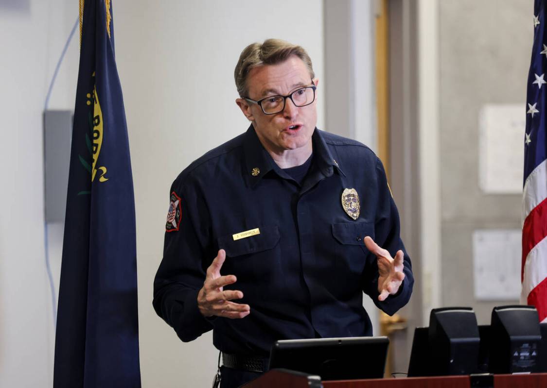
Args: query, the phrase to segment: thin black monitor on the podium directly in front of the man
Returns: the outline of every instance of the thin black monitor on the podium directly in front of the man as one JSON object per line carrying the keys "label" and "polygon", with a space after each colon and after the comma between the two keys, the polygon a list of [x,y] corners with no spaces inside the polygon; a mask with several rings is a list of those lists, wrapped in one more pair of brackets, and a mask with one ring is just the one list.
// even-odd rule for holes
{"label": "thin black monitor on the podium directly in front of the man", "polygon": [[387,337],[279,340],[272,346],[269,369],[317,374],[322,380],[382,378]]}

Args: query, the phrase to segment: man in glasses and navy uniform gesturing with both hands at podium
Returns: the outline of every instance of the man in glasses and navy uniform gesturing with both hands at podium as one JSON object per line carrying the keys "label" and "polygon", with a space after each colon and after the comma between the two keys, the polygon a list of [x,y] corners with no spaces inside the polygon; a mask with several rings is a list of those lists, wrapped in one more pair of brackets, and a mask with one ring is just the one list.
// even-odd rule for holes
{"label": "man in glasses and navy uniform gesturing with both hands at podium", "polygon": [[382,163],[315,127],[306,51],[251,44],[235,81],[251,126],[174,181],[153,302],[185,342],[213,330],[223,387],[276,340],[371,336],[363,291],[394,314],[414,283]]}

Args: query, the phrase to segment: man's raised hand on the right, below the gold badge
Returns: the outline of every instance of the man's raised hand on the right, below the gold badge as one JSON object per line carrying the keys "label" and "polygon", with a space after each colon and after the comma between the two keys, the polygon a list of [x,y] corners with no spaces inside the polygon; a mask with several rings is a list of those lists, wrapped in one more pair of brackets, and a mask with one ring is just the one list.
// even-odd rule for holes
{"label": "man's raised hand on the right, below the gold badge", "polygon": [[398,250],[395,258],[392,258],[386,249],[380,248],[369,236],[364,238],[366,248],[376,255],[378,263],[378,296],[379,301],[384,301],[389,295],[395,295],[403,284],[403,251]]}

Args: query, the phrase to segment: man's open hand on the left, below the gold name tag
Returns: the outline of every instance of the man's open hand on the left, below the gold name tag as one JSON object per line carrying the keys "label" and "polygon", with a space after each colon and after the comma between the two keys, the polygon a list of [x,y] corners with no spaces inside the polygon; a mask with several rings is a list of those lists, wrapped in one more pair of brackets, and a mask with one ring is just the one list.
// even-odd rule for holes
{"label": "man's open hand on the left, below the gold name tag", "polygon": [[243,318],[251,312],[248,304],[230,302],[241,299],[243,292],[237,290],[223,291],[223,287],[236,283],[234,275],[220,276],[220,267],[226,259],[224,249],[218,251],[217,257],[207,268],[207,275],[203,287],[197,294],[197,307],[203,316],[224,316],[225,318]]}

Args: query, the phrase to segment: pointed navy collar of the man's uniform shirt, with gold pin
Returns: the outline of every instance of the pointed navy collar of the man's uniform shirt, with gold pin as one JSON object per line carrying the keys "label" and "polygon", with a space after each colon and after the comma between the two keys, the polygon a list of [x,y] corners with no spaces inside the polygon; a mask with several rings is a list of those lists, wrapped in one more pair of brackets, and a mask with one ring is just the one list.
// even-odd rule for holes
{"label": "pointed navy collar of the man's uniform shirt, with gold pin", "polygon": [[[321,131],[317,128],[313,131],[312,144],[314,154],[313,163],[316,164],[318,170],[321,171],[325,177],[330,177],[335,170],[345,176],[325,143]],[[271,171],[276,172],[278,175],[285,176],[270,154],[268,154],[262,143],[260,143],[252,124],[245,133],[243,150],[245,152],[245,171],[243,174],[251,187],[257,185],[259,181]]]}

